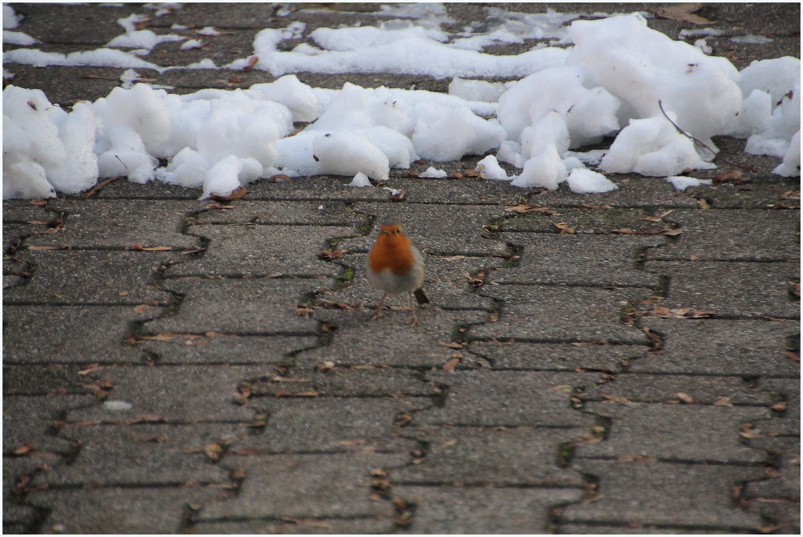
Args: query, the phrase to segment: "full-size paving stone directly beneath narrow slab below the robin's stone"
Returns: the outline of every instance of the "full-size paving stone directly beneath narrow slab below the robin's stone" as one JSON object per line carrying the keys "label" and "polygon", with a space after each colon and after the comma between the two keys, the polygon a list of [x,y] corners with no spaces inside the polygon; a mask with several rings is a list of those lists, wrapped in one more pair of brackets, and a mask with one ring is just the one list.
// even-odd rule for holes
{"label": "full-size paving stone directly beneath narrow slab below the robin's stone", "polygon": [[250,403],[268,414],[267,427],[238,443],[238,454],[415,450],[418,444],[399,437],[394,422],[432,405],[423,397],[258,397]]}

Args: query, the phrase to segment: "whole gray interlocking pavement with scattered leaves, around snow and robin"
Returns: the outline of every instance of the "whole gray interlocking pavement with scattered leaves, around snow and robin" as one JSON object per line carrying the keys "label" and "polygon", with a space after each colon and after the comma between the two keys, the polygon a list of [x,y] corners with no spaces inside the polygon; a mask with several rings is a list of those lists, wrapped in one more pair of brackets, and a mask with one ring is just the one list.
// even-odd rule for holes
{"label": "whole gray interlocking pavement with scattered leaves, around snow and robin", "polygon": [[[51,52],[100,47],[121,33],[117,18],[145,10],[11,6]],[[188,4],[149,27],[224,33],[206,50],[161,43],[148,59],[222,65],[289,20],[308,34],[389,18],[376,4],[325,6],[282,17],[270,4]],[[447,4],[450,30],[483,22],[482,7]],[[721,39],[715,55],[736,67],[799,56],[799,4],[699,14],[774,39]],[[649,25],[673,39],[691,26]],[[64,107],[106,96],[124,71],[4,67]],[[138,72],[177,93],[274,79]],[[800,181],[771,173],[780,159],[742,153],[744,140],[715,143],[757,170],[744,185],[677,192],[613,174],[618,190],[583,195],[395,169],[397,202],[347,177],[258,181],[231,210],[198,201],[200,189],[124,180],[44,205],[3,201],[3,531],[799,533]],[[522,201],[556,214],[506,210]],[[421,327],[405,297],[364,320],[381,297],[365,257],[387,217],[425,254]],[[657,234],[667,229],[681,233]],[[346,251],[320,258],[327,249]]]}

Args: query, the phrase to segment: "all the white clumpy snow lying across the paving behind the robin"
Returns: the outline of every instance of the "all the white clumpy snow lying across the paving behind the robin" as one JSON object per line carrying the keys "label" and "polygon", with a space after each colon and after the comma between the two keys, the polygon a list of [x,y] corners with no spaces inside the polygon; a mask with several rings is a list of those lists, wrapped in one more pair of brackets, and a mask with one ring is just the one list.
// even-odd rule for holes
{"label": "all the white clumpy snow lying across the paving behind the robin", "polygon": [[[799,59],[753,62],[740,73],[728,59],[703,53],[704,38],[721,35],[710,28],[681,32],[683,38],[701,38],[695,47],[650,30],[640,14],[576,20],[577,14],[551,10],[484,9],[485,24],[464,26],[458,33],[441,29],[442,23],[454,23],[441,4],[405,4],[383,6],[380,14],[398,18],[377,21],[377,26],[317,28],[307,35],[314,45],[302,43],[292,51],[279,51],[278,45],[304,36],[304,22],[288,21],[284,28],[259,31],[254,39],[255,68],[275,75],[430,75],[451,79],[448,95],[352,83],[340,90],[312,88],[293,74],[246,90],[168,94],[136,83],[134,69],[218,67],[208,58],[159,67],[137,57],[161,41],[185,39],[137,30],[145,17],[138,14],[121,18],[126,33],[108,44],[137,47],[134,51],[6,51],[5,63],[127,70],[120,75],[122,87],[93,104],[75,104],[69,114],[47,102],[42,92],[6,87],[3,197],[77,193],[96,184],[97,177],[116,175],[202,187],[203,197],[226,195],[277,173],[331,173],[353,177],[350,186],[365,186],[369,178],[385,181],[390,169],[408,169],[420,157],[441,162],[465,155],[484,156],[477,169],[487,179],[512,180],[521,187],[556,189],[568,181],[577,193],[616,189],[586,165],[669,177],[683,185],[691,178],[675,174],[715,165],[666,119],[659,100],[679,128],[711,148],[711,136],[747,138],[746,152],[784,158],[775,173],[799,175]],[[3,24],[4,37],[18,25],[9,6],[3,7]],[[198,31],[219,33],[212,27]],[[490,44],[524,39],[576,45],[566,50],[539,43],[510,56],[481,52]],[[190,39],[182,48],[201,45],[201,39]],[[248,61],[238,59],[226,67],[242,68]],[[480,77],[518,80],[491,83]],[[308,125],[288,136],[293,122]],[[596,144],[602,136],[616,136],[609,149],[569,150]],[[485,156],[489,151],[495,155]],[[157,159],[168,159],[168,164],[157,168]],[[500,161],[521,169],[520,174],[508,177]],[[430,166],[419,177],[446,177],[446,172]]]}

